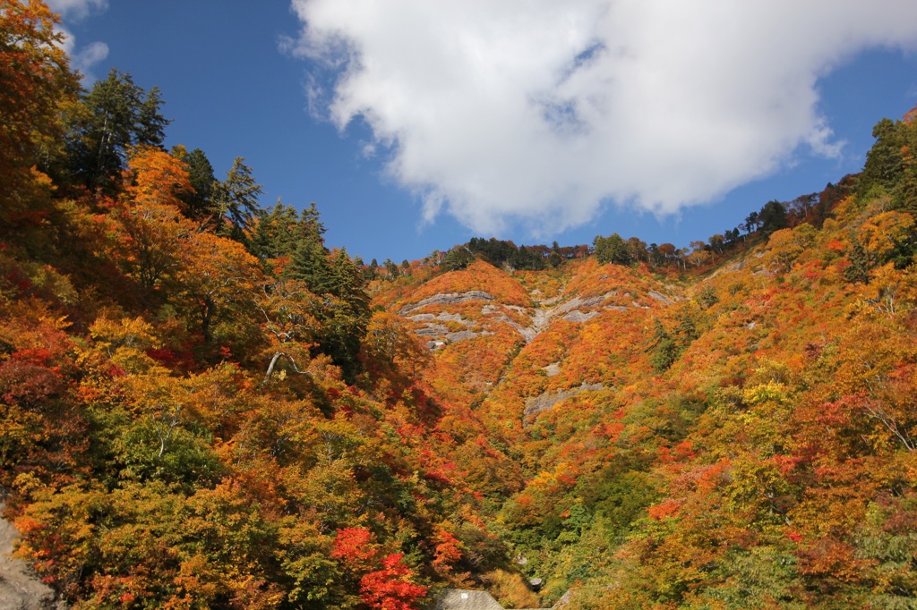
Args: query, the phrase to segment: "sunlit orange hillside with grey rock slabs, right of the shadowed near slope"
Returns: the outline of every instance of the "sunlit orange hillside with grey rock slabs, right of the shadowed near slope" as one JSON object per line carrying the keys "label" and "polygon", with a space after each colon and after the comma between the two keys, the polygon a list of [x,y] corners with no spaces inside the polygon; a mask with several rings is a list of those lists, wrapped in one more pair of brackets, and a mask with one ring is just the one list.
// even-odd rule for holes
{"label": "sunlit orange hillside with grey rock slabs, right of the shadowed near slope", "polygon": [[914,222],[863,179],[829,191],[694,273],[477,262],[392,305],[517,466],[470,481],[543,603],[911,599]]}

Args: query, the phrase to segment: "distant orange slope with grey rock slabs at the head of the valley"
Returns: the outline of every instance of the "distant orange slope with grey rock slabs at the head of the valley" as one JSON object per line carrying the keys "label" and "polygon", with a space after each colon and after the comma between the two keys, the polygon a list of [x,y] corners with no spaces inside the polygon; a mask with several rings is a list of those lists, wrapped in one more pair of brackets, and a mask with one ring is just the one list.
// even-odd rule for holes
{"label": "distant orange slope with grey rock slabs at the head of the valley", "polygon": [[436,375],[451,382],[447,394],[478,405],[513,439],[542,413],[645,370],[653,322],[682,299],[645,270],[593,260],[517,273],[479,261],[390,309],[425,341]]}

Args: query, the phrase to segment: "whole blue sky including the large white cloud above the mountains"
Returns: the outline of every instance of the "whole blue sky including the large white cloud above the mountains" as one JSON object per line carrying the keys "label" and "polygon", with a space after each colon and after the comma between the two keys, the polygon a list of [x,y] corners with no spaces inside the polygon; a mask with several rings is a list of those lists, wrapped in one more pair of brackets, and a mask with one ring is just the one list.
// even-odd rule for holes
{"label": "whole blue sky including the large white cloud above the mountains", "polygon": [[[535,2],[522,24],[492,3],[431,8],[449,4],[57,8],[87,85],[111,67],[158,85],[167,145],[202,148],[217,178],[246,158],[262,205],[316,202],[326,244],[367,261],[421,258],[476,235],[574,245],[616,232],[688,245],[856,172],[872,125],[917,103],[917,3],[871,4],[888,25],[843,2],[812,3],[821,10],[794,23],[775,0],[760,9],[774,15],[697,24],[648,0],[641,15]],[[849,15],[830,16],[847,5]],[[717,19],[732,29],[700,31]],[[596,84],[613,81],[627,86]]]}

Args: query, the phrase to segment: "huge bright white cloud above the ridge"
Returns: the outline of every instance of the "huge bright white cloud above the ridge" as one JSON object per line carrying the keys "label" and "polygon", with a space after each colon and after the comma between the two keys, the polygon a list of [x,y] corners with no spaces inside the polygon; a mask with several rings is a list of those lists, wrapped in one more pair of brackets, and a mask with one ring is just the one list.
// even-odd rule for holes
{"label": "huge bright white cloud above the ridge", "polygon": [[[858,51],[917,46],[913,0],[293,0],[290,49],[391,147],[388,170],[481,232],[551,234],[602,202],[707,202],[837,155],[816,82]],[[314,74],[315,77],[315,74]]]}

